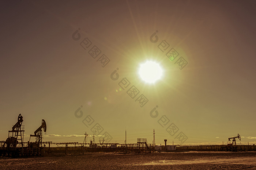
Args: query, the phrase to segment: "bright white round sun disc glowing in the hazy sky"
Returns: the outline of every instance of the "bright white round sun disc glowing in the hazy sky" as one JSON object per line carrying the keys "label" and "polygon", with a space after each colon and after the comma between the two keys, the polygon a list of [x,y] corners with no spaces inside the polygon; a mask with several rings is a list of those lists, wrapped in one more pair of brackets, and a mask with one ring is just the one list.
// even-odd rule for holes
{"label": "bright white round sun disc glowing in the hazy sky", "polygon": [[160,80],[163,75],[162,67],[154,61],[146,61],[140,64],[139,76],[148,84],[153,84]]}

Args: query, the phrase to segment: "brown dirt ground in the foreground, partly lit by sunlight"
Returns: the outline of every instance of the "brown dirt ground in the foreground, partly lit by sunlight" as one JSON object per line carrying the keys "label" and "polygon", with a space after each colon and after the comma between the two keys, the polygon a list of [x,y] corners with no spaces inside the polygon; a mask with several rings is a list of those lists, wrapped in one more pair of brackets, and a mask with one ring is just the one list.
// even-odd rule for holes
{"label": "brown dirt ground in the foreground, partly lit by sunlight", "polygon": [[0,169],[256,169],[256,152],[86,153],[0,158]]}

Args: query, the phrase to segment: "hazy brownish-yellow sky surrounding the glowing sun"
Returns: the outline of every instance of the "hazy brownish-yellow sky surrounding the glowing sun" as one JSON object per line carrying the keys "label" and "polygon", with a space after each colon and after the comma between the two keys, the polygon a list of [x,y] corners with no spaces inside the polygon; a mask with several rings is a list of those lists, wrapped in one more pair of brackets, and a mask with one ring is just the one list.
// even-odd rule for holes
{"label": "hazy brownish-yellow sky surrounding the glowing sun", "polygon": [[[156,143],[222,144],[238,133],[256,143],[254,0],[1,1],[0,21],[0,140],[21,113],[25,141],[44,119],[43,141],[82,143],[87,132],[124,143],[126,129],[127,143],[152,143],[155,129]],[[154,85],[138,76],[146,60],[164,70]]]}

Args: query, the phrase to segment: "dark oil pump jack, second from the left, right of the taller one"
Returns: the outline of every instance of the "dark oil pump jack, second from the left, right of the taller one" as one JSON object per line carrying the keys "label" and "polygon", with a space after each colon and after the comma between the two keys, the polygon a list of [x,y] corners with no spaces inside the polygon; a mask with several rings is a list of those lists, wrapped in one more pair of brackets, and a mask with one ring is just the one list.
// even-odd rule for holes
{"label": "dark oil pump jack, second from the left, right of the taller one", "polygon": [[46,132],[46,122],[44,119],[42,119],[42,125],[37,128],[37,130],[34,132],[34,135],[30,135],[32,137],[35,137],[35,142],[30,143],[30,138],[29,138],[29,147],[33,148],[32,154],[35,153],[37,155],[41,155],[41,149],[42,149],[42,129],[44,132]]}

